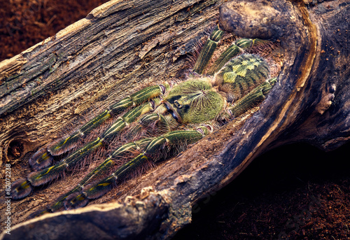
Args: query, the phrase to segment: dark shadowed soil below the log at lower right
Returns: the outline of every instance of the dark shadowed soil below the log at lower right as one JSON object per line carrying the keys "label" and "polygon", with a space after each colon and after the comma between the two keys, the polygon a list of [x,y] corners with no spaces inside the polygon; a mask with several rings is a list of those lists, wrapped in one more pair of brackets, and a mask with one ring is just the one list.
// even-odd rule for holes
{"label": "dark shadowed soil below the log at lower right", "polygon": [[350,239],[349,147],[295,143],[258,157],[174,239]]}

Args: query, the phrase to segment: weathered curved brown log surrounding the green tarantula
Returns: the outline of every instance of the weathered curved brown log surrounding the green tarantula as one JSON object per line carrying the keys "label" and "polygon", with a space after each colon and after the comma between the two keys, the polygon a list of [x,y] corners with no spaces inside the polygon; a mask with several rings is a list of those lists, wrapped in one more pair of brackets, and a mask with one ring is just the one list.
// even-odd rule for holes
{"label": "weathered curved brown log surrounding the green tarantula", "polygon": [[[105,108],[140,85],[182,76],[193,36],[218,13],[218,3],[208,1],[133,4],[110,1],[55,38],[0,64],[8,87],[0,101],[4,159],[13,161],[16,154],[43,145],[62,122],[93,114],[90,106]],[[79,232],[94,239],[94,232],[105,239],[167,239],[190,222],[191,205],[232,181],[261,153],[295,141],[324,150],[341,146],[350,138],[349,8],[345,0],[224,3],[223,29],[272,38],[284,50],[278,83],[260,109],[95,201],[120,204],[42,216],[14,227],[11,235],[62,239]]]}

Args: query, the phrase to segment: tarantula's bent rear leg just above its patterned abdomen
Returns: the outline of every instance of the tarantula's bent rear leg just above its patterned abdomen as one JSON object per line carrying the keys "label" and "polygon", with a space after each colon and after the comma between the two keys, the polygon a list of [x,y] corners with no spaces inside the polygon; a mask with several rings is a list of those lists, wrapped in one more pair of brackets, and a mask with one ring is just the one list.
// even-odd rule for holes
{"label": "tarantula's bent rear leg just above its patterned abdomen", "polygon": [[266,41],[260,39],[240,38],[232,43],[221,55],[216,59],[214,64],[208,70],[209,75],[214,75],[233,57],[236,57],[246,48],[251,48],[253,45],[265,43]]}

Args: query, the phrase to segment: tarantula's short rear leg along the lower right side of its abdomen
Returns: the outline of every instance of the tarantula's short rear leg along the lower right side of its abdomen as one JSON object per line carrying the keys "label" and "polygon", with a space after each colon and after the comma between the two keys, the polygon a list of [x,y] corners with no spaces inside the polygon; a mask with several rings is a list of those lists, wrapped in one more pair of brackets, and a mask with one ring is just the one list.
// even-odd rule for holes
{"label": "tarantula's short rear leg along the lower right side of its abdomen", "polygon": [[234,106],[228,108],[231,111],[232,115],[237,117],[242,113],[245,113],[250,108],[253,108],[261,101],[264,101],[266,95],[269,93],[269,90],[272,89],[272,86],[276,83],[276,78],[272,78],[265,83],[262,83],[258,87],[255,87],[251,92],[246,94],[235,103]]}

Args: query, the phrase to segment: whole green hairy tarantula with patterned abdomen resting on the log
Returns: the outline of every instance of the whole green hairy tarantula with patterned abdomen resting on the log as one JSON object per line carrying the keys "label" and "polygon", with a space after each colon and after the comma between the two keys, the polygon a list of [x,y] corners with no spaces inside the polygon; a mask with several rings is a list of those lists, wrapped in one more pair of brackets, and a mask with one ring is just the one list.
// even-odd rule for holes
{"label": "whole green hairy tarantula with patterned abdomen resting on the log", "polygon": [[[156,162],[179,153],[188,144],[257,106],[276,78],[272,78],[265,59],[245,53],[244,49],[267,41],[239,38],[213,61],[212,55],[223,35],[224,31],[214,28],[186,81],[145,87],[113,104],[70,136],[39,149],[29,160],[35,171],[13,183],[13,199],[27,197],[34,188],[81,164],[93,151],[115,139],[123,139],[119,148],[46,211],[85,206],[128,178],[144,162]],[[118,117],[96,139],[72,150],[77,148],[78,141],[113,116]],[[52,165],[54,157],[69,150],[72,152]],[[120,159],[124,164],[118,166]]]}

